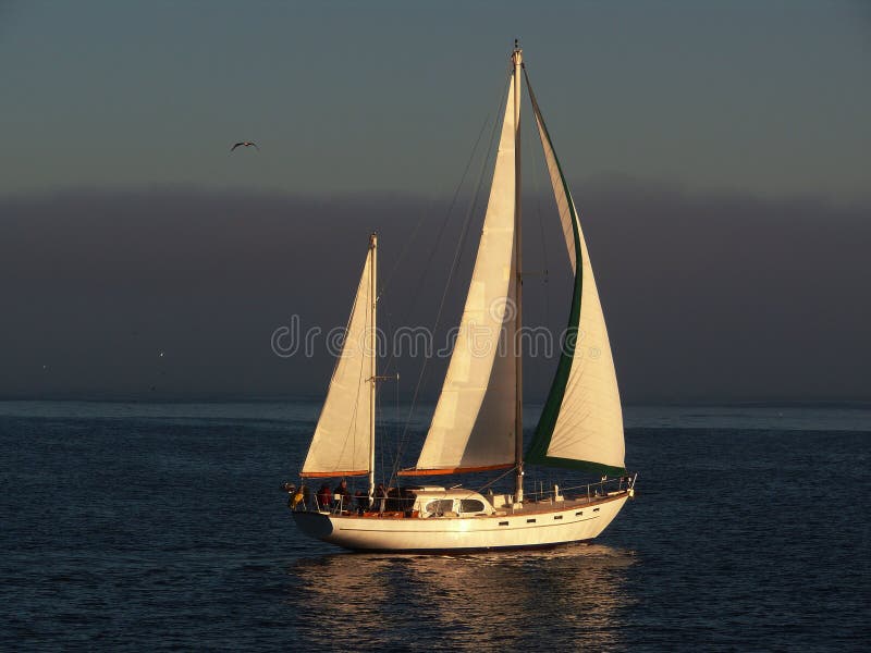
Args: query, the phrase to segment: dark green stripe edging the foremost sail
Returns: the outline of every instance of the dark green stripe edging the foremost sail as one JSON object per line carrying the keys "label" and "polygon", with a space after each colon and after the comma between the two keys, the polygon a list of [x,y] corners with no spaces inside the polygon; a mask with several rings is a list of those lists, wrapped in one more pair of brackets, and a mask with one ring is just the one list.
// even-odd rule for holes
{"label": "dark green stripe edging the foremost sail", "polygon": [[[526,71],[524,71],[526,72]],[[536,120],[541,126],[541,133],[548,141],[553,161],[556,163],[556,170],[560,172],[560,182],[565,193],[566,205],[572,218],[572,235],[575,241],[575,287],[572,294],[572,309],[568,313],[568,325],[566,328],[565,340],[563,341],[562,353],[560,355],[560,362],[556,366],[556,374],[551,383],[551,390],[548,393],[548,401],[544,403],[544,408],[541,411],[541,417],[538,420],[536,432],[532,435],[532,442],[526,452],[526,461],[536,465],[551,465],[554,467],[567,467],[572,469],[585,469],[596,471],[599,473],[613,473],[619,475],[626,470],[623,467],[612,467],[610,465],[602,465],[600,463],[592,463],[588,460],[576,460],[574,458],[557,458],[548,455],[548,449],[551,445],[551,438],[553,436],[553,429],[556,426],[556,419],[560,416],[560,408],[563,405],[563,397],[565,396],[565,389],[568,384],[568,375],[572,372],[572,362],[575,359],[575,346],[577,345],[578,329],[580,324],[580,294],[584,287],[582,278],[582,255],[580,248],[580,232],[578,227],[578,218],[575,213],[575,202],[572,201],[572,194],[568,190],[568,183],[565,181],[563,168],[560,165],[560,159],[556,157],[556,150],[551,141],[551,136],[548,133],[548,127],[544,124],[544,119],[539,110],[536,95],[532,93],[532,86],[529,84],[529,76],[526,76],[526,87],[529,89],[529,99],[532,102],[532,110],[536,114]]]}

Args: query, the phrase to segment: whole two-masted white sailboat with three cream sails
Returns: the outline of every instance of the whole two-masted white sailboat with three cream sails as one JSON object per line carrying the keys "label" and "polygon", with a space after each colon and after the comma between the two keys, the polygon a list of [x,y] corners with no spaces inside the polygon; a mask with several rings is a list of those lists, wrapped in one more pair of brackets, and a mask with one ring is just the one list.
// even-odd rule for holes
{"label": "whole two-masted white sailboat with three cream sails", "polygon": [[[511,59],[492,185],[458,335],[417,464],[398,476],[430,479],[506,470],[503,476],[513,475],[514,488],[496,493],[456,485],[376,485],[376,392],[381,379],[375,340],[378,238],[373,234],[343,349],[300,471],[303,485],[290,490],[293,518],[308,535],[376,552],[542,547],[592,540],[634,495],[637,475],[629,475],[624,464],[619,392],[587,244],[516,41]],[[526,452],[517,338],[523,324],[524,79],[574,273],[566,337]],[[513,350],[499,347],[499,338],[511,343]],[[600,480],[525,492],[527,465],[582,469]],[[321,491],[305,484],[345,477],[368,477],[368,492],[333,496],[328,484]]]}

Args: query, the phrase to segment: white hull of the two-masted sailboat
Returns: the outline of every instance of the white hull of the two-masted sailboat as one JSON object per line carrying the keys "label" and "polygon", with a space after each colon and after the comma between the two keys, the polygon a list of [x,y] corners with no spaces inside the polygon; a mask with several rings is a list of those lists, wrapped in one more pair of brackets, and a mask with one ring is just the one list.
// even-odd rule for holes
{"label": "white hull of the two-masted sailboat", "polygon": [[360,517],[294,512],[308,535],[354,551],[487,551],[553,546],[598,537],[631,491],[587,502],[525,506],[504,515],[477,517]]}

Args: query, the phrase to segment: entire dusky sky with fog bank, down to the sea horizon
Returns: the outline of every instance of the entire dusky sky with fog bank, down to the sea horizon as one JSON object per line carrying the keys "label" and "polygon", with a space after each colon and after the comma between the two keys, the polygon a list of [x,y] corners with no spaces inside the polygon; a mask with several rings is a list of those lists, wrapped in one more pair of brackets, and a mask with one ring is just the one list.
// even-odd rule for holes
{"label": "entire dusky sky with fog bank, down to the sea horizon", "polygon": [[[0,396],[316,396],[329,357],[270,334],[344,323],[372,230],[391,319],[431,324],[515,37],[624,399],[871,401],[871,10],[847,1],[0,1]],[[526,249],[554,271],[530,321],[559,329],[554,221]]]}

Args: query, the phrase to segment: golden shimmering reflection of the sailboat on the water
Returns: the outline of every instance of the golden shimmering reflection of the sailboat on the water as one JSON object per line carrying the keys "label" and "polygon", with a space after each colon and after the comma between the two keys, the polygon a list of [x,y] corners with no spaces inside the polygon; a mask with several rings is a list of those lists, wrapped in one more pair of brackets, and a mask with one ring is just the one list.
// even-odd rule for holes
{"label": "golden shimmering reflection of the sailboat on the water", "polygon": [[[478,649],[625,643],[635,553],[600,544],[476,555],[335,554],[296,562],[289,607],[343,645]],[[530,625],[535,625],[530,628]],[[562,646],[560,644],[563,644]]]}

